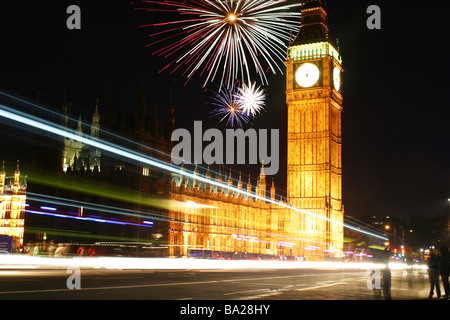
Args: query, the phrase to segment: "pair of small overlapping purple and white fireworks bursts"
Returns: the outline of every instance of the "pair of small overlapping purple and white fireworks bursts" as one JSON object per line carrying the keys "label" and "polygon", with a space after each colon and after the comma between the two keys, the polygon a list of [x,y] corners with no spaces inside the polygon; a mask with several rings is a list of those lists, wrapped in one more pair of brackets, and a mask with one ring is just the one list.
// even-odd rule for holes
{"label": "pair of small overlapping purple and white fireworks bursts", "polygon": [[254,83],[238,89],[221,89],[212,97],[211,104],[216,108],[210,114],[221,117],[219,122],[226,121],[230,127],[242,128],[244,124],[250,124],[265,104],[264,91],[255,87]]}

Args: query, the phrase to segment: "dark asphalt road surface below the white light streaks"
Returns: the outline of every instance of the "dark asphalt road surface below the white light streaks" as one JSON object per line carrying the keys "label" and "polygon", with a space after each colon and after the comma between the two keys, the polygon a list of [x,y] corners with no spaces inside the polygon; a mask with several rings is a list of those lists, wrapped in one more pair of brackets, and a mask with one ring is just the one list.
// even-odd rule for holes
{"label": "dark asphalt road surface below the white light streaks", "polygon": [[78,279],[76,272],[0,270],[0,299],[421,300],[429,290],[425,270],[393,270],[390,297],[375,281],[369,288],[364,270],[81,269]]}

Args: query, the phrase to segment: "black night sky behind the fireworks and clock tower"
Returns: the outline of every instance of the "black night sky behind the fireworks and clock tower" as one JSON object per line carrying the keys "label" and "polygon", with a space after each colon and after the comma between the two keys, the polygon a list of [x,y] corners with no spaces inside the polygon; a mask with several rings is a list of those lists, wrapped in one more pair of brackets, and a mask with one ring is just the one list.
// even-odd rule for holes
{"label": "black night sky behind the fireworks and clock tower", "polygon": [[[450,210],[450,60],[445,42],[450,30],[445,3],[328,1],[330,31],[339,39],[345,69],[343,198],[348,215],[407,218]],[[81,30],[66,28],[71,4],[81,8]],[[382,10],[381,30],[366,27],[371,4]],[[156,105],[161,121],[170,88],[176,127],[208,121],[202,82],[194,79],[183,86],[179,75],[158,74],[164,61],[145,47],[150,30],[137,28],[151,22],[152,15],[133,7],[130,1],[3,1],[2,88],[28,97],[39,91],[42,101],[60,108],[67,87],[73,109],[89,119],[108,84],[116,112],[132,112],[144,79],[148,108]],[[281,167],[275,182],[285,189],[285,76],[270,76],[269,82],[267,112],[254,126],[280,129]],[[24,158],[18,147],[24,141],[12,127],[2,127],[0,157]],[[248,168],[253,177],[257,170]]]}

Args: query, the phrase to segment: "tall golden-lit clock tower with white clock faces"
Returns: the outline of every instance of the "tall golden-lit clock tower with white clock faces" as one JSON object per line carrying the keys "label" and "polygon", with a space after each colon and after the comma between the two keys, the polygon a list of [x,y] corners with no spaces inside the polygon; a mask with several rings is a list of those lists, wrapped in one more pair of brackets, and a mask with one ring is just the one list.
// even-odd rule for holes
{"label": "tall golden-lit clock tower with white clock faces", "polygon": [[[342,251],[342,60],[330,38],[325,0],[302,0],[301,25],[289,45],[287,196],[305,213],[291,216],[303,254]],[[304,249],[303,249],[304,248]]]}

